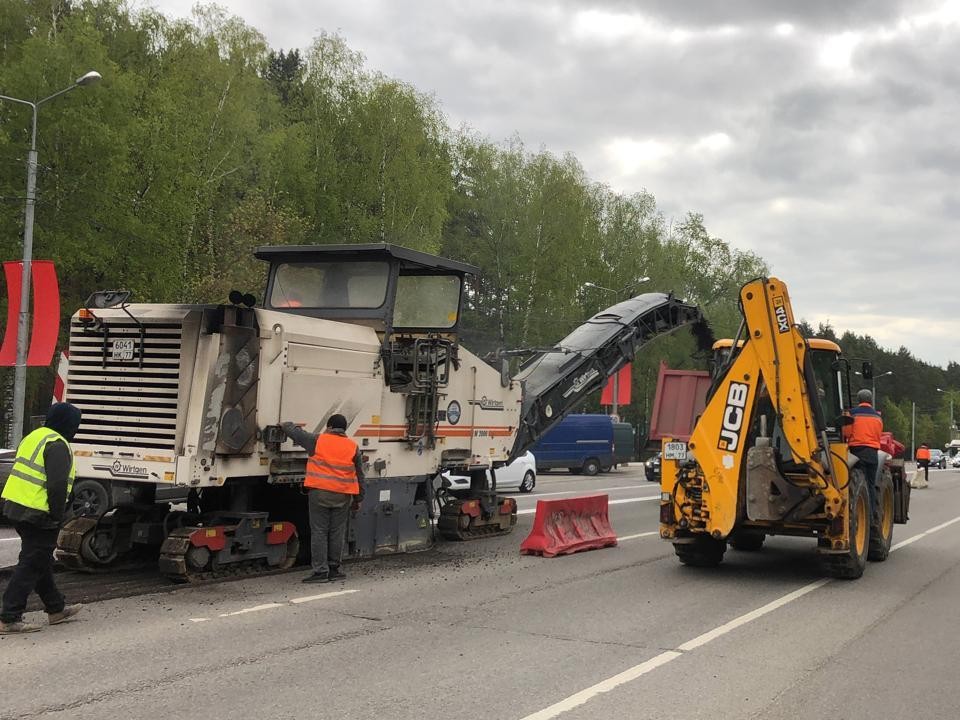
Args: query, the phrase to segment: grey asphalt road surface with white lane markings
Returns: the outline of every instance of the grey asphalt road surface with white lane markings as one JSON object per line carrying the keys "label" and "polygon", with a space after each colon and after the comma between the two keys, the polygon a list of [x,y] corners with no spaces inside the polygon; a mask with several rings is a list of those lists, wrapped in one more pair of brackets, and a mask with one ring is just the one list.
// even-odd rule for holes
{"label": "grey asphalt road surface with white lane markings", "polygon": [[186,587],[0,637],[0,718],[960,716],[960,471],[931,472],[889,560],[853,582],[791,538],[681,566],[639,466],[545,475],[519,504],[599,489],[616,548],[522,557],[528,512],[512,536],[343,583]]}

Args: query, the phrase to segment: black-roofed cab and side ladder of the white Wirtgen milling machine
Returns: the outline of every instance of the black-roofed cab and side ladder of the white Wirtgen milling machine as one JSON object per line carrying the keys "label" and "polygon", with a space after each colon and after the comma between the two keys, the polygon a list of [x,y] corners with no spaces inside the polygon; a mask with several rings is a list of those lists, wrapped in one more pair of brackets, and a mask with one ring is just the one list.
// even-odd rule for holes
{"label": "black-roofed cab and side ladder of the white Wirtgen milling machine", "polygon": [[439,392],[458,365],[464,285],[478,268],[388,243],[261,247],[264,307],[373,328],[383,379],[406,396],[404,440],[434,447]]}

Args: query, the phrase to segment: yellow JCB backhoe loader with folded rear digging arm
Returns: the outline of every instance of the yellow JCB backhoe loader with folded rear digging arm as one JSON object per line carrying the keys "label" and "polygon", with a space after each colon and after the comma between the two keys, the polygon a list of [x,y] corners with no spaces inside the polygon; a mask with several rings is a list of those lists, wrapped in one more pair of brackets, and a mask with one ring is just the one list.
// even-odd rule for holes
{"label": "yellow JCB backhoe loader with folded rear digging arm", "polygon": [[[851,363],[836,343],[800,334],[782,281],[747,283],[740,308],[736,339],[714,346],[689,443],[663,441],[660,535],[693,566],[719,564],[728,544],[759,550],[767,535],[816,538],[828,575],[858,578],[868,559],[886,559],[894,523],[907,521],[903,461],[881,452],[868,478],[848,451]],[[871,372],[864,363],[863,376]]]}

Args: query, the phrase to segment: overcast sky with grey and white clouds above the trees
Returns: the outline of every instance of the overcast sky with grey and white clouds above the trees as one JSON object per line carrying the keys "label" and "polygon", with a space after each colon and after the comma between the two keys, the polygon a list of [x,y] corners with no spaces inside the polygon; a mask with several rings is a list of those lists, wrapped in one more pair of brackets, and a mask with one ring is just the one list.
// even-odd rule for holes
{"label": "overcast sky with grey and white clouds above the trees", "polygon": [[573,152],[668,216],[703,213],[767,260],[799,317],[960,359],[960,2],[220,4],[274,48],[339,32],[454,127]]}

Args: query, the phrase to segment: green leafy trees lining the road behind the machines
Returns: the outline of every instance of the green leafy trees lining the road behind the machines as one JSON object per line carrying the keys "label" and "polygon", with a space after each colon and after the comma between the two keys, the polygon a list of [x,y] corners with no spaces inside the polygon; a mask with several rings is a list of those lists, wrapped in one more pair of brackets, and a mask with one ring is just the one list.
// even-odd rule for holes
{"label": "green leafy trees lining the road behind the machines", "polygon": [[[372,72],[335,34],[278,51],[216,6],[173,21],[121,0],[6,0],[0,49],[6,95],[42,98],[103,74],[39,114],[35,256],[56,259],[68,311],[106,287],[220,302],[260,290],[258,245],[387,241],[481,269],[464,319],[465,344],[484,354],[552,345],[653,291],[698,302],[730,336],[739,287],[767,272],[702,216],[668,222],[652,195],[591,182],[572,156],[451,131],[433,98]],[[29,125],[28,109],[0,103],[5,258],[20,256]],[[914,401],[927,439],[945,441],[948,396],[935,388],[960,391],[960,365],[943,371],[829,325],[815,334],[894,372],[877,381],[889,427],[907,432]],[[646,416],[661,360],[702,367],[693,353],[681,334],[642,354],[624,415]],[[39,408],[52,372],[32,380]]]}

